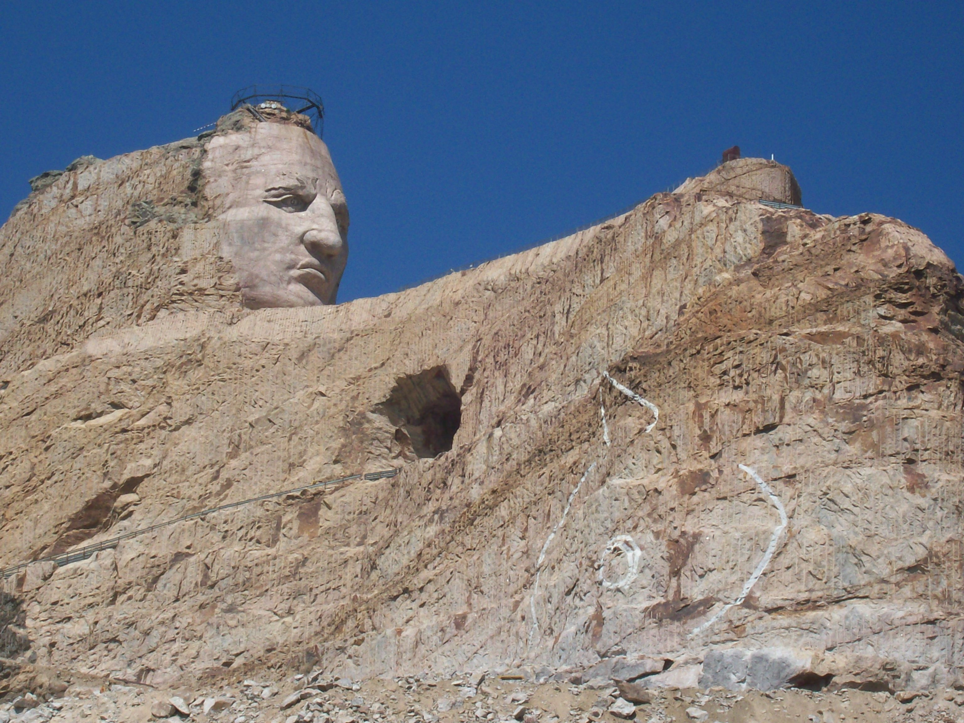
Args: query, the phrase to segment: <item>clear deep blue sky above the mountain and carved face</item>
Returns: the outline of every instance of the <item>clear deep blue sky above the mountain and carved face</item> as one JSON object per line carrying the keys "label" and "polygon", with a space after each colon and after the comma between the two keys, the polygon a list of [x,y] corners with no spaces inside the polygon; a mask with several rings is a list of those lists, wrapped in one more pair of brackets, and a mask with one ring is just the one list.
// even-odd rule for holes
{"label": "clear deep blue sky above the mountain and carved face", "polygon": [[738,144],[804,204],[964,262],[964,3],[7,3],[0,216],[27,179],[193,135],[253,83],[326,106],[339,300],[510,253]]}

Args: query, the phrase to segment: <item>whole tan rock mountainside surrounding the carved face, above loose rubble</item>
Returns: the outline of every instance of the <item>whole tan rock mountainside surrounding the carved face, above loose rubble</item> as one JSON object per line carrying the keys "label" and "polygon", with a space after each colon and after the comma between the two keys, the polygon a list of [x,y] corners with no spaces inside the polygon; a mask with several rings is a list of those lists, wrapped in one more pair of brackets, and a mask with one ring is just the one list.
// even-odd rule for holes
{"label": "whole tan rock mountainside surrounding the carved face, above loose rubble", "polygon": [[[5,581],[23,655],[154,684],[632,660],[651,685],[950,681],[960,278],[894,219],[756,201],[795,181],[736,163],[330,308],[238,308],[202,142],[33,194],[0,230],[0,563],[400,473],[37,563]],[[419,456],[459,402],[451,450]]]}

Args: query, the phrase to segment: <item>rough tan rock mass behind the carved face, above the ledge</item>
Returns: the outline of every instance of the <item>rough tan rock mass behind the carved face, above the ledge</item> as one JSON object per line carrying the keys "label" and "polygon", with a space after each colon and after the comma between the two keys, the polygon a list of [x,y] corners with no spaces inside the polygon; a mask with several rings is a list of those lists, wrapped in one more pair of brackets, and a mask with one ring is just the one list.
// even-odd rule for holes
{"label": "rough tan rock mass behind the carved face, above the ledge", "polygon": [[0,377],[95,333],[238,308],[220,233],[201,223],[203,157],[192,138],[106,161],[85,156],[35,184],[0,228]]}

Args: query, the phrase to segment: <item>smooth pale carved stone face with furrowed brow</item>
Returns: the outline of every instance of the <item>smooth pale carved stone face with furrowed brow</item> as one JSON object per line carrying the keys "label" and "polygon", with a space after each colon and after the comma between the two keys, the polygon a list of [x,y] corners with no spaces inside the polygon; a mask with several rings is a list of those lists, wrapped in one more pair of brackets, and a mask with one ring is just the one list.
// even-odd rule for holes
{"label": "smooth pale carved stone face with furrowed brow", "polygon": [[248,308],[334,304],[348,259],[348,206],[328,147],[297,125],[215,136],[205,194]]}

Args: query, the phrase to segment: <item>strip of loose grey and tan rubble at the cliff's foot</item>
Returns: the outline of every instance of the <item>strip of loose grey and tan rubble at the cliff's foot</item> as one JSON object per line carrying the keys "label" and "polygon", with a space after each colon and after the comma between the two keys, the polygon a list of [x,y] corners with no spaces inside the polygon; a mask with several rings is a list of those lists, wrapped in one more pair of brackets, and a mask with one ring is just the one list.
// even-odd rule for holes
{"label": "strip of loose grey and tan rubble at the cliff's foot", "polygon": [[[517,676],[522,678],[522,676]],[[473,684],[474,683],[474,684]],[[285,691],[290,692],[285,693]],[[0,705],[0,723],[958,723],[964,692],[780,690],[720,687],[658,690],[635,703],[615,686],[459,675],[336,682],[296,676],[220,688],[159,691],[137,685],[72,685],[42,701],[32,694]]]}

